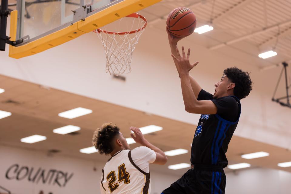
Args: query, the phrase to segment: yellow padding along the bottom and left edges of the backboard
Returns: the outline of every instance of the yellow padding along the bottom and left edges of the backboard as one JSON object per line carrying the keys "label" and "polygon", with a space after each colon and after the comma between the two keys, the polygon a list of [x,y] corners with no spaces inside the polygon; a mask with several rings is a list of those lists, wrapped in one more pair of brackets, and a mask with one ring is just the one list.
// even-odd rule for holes
{"label": "yellow padding along the bottom and left edges of the backboard", "polygon": [[[52,47],[68,42],[74,38],[79,37],[82,34],[91,32],[92,30],[95,30],[96,28],[100,28],[106,24],[114,22],[115,20],[118,20],[126,15],[137,12],[143,8],[146,8],[160,1],[161,0],[126,0],[126,1],[119,2],[115,5],[110,6],[109,8],[106,8],[98,13],[95,13],[87,17],[85,21],[75,22],[73,25],[70,25],[69,27],[61,29],[57,32],[53,32],[52,34],[46,35],[35,41],[28,42],[25,45],[21,45],[18,47],[10,46],[9,57],[20,59],[22,57],[34,55],[36,53],[45,51],[47,49],[50,49]],[[15,14],[16,14],[16,23],[17,23],[17,12]],[[119,15],[119,17],[116,16],[116,14]],[[14,22],[15,22],[15,18],[12,19],[12,15],[11,15],[11,26],[13,25],[14,26],[13,28],[15,29],[12,29],[10,27],[10,35],[14,35],[10,37],[15,38],[16,26]]]}

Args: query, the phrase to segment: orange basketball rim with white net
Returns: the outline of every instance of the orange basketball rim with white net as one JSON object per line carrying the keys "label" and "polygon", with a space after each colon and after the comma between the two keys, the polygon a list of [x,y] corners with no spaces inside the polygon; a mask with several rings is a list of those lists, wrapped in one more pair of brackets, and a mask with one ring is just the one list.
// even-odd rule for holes
{"label": "orange basketball rim with white net", "polygon": [[[133,13],[93,31],[98,35],[105,49],[106,72],[110,75],[131,72],[132,53],[146,25],[145,17]],[[112,26],[116,28],[115,32],[106,30]],[[120,28],[124,28],[123,32],[118,32]]]}

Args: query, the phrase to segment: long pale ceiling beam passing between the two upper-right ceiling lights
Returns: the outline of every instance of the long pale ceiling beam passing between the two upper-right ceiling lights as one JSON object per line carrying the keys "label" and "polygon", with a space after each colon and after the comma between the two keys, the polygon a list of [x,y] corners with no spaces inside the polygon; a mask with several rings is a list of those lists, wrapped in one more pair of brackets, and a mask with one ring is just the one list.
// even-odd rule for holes
{"label": "long pale ceiling beam passing between the two upper-right ceiling lights", "polygon": [[250,34],[246,34],[246,35],[243,35],[239,38],[235,38],[235,39],[232,39],[232,40],[229,40],[227,42],[223,42],[223,43],[220,43],[218,45],[215,45],[215,46],[212,46],[212,47],[209,47],[210,50],[214,50],[214,49],[219,49],[223,46],[226,46],[226,45],[231,45],[233,43],[236,43],[236,42],[239,42],[239,41],[242,41],[242,40],[245,40],[247,38],[250,38],[252,36],[255,36],[255,35],[259,35],[263,32],[269,32],[271,30],[274,30],[276,28],[278,28],[278,26],[285,26],[285,25],[289,25],[291,24],[291,20],[288,20],[288,21],[285,21],[285,22],[281,22],[281,23],[278,23],[278,24],[275,24],[275,25],[272,25],[272,26],[269,26],[267,28],[262,28],[261,30],[258,30],[256,32],[252,32]]}

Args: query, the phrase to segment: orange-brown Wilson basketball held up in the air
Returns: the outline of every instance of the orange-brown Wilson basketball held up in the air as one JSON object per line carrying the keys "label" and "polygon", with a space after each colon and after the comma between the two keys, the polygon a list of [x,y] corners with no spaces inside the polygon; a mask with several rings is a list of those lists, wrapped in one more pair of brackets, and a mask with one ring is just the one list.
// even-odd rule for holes
{"label": "orange-brown Wilson basketball held up in the air", "polygon": [[186,7],[174,9],[167,18],[168,30],[176,37],[189,36],[194,32],[196,24],[195,14]]}

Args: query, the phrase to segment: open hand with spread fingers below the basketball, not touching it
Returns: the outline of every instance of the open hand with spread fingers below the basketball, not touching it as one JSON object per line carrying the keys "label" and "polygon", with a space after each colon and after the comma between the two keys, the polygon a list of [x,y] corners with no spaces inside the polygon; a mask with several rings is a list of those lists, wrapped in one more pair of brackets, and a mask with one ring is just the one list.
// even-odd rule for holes
{"label": "open hand with spread fingers below the basketball, not touching it", "polygon": [[190,64],[189,58],[190,58],[190,49],[188,49],[187,56],[185,55],[184,47],[182,46],[182,56],[180,55],[179,49],[176,49],[178,57],[175,57],[172,54],[172,57],[174,59],[174,62],[177,64],[177,69],[179,72],[179,75],[181,73],[188,73],[193,67],[195,67],[199,62],[196,61],[194,64]]}

